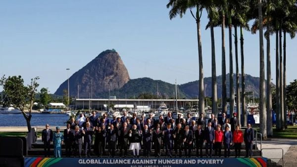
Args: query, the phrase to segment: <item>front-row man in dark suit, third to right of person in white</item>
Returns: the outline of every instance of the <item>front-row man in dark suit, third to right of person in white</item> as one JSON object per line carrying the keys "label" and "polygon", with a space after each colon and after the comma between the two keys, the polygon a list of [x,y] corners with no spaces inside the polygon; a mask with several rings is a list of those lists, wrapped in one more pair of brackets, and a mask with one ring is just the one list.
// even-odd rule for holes
{"label": "front-row man in dark suit, third to right of person in white", "polygon": [[166,156],[172,158],[171,151],[173,147],[173,129],[171,128],[171,124],[168,123],[165,130],[163,130],[164,134],[164,143],[166,149]]}

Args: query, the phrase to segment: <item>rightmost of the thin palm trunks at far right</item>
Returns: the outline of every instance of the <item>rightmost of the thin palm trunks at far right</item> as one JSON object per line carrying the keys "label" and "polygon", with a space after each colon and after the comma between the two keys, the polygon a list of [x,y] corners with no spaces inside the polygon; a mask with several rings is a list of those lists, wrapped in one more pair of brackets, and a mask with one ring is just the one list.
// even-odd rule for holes
{"label": "rightmost of the thin palm trunks at far right", "polygon": [[[286,31],[284,31],[284,71],[283,71],[283,104],[284,104],[284,115],[285,115],[285,118],[287,117],[287,90],[286,90],[286,88],[287,88],[287,85],[286,85],[286,57],[287,57],[287,53],[286,53],[286,44],[287,44],[287,42],[286,42]],[[284,125],[285,125],[285,127],[287,126],[286,125],[286,123],[287,123],[287,120],[285,119],[285,123],[284,123]]]}

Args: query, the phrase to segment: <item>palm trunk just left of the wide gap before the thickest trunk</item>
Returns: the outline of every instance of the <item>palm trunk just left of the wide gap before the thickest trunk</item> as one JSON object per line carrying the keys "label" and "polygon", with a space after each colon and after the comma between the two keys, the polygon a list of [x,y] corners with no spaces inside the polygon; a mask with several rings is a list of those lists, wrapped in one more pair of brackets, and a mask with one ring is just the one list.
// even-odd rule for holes
{"label": "palm trunk just left of the wide gap before the thickest trunk", "polygon": [[244,57],[244,33],[243,27],[240,27],[240,51],[241,51],[241,70],[242,70],[242,113],[244,117],[243,124],[247,125],[247,111],[246,111],[246,83],[245,83],[245,57]]}

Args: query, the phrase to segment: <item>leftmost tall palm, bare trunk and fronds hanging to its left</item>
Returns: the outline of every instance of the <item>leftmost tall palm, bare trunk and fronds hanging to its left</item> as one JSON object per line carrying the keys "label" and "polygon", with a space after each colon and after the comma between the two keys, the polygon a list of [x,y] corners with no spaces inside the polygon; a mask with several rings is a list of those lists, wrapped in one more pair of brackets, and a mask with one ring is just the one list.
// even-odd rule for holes
{"label": "leftmost tall palm, bare trunk and fronds hanging to its left", "polygon": [[[203,63],[202,63],[202,42],[201,42],[201,29],[200,17],[203,9],[204,0],[169,0],[166,5],[167,8],[171,7],[169,11],[170,19],[180,17],[190,9],[192,16],[197,24],[197,39],[198,39],[198,59],[199,59],[199,113],[205,115],[204,109],[204,82],[203,82]],[[193,14],[192,8],[196,8],[196,15]]]}

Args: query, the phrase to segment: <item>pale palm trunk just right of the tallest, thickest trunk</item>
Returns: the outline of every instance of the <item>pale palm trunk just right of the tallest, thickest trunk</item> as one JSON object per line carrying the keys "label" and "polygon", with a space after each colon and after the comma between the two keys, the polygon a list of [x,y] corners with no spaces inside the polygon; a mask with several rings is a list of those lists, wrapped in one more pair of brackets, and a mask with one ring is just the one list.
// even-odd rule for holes
{"label": "pale palm trunk just right of the tallest, thickest trunk", "polygon": [[[269,28],[268,28],[269,29]],[[267,30],[269,31],[269,30]],[[267,51],[267,81],[266,81],[266,103],[267,103],[267,136],[273,135],[272,130],[272,95],[271,95],[271,61],[270,61],[270,35],[266,36],[266,51]]]}

